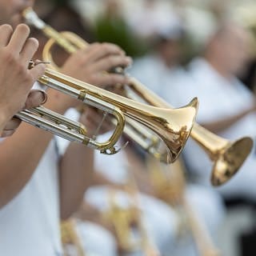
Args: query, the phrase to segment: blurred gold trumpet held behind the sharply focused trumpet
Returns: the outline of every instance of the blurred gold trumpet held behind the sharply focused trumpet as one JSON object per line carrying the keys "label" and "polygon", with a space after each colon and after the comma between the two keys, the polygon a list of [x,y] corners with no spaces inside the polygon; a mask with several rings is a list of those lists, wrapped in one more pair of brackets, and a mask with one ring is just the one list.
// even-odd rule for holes
{"label": "blurred gold trumpet held behind the sharply focused trumpet", "polygon": [[[62,46],[68,53],[74,53],[76,50],[83,49],[88,45],[82,38],[78,38],[76,34],[71,32],[58,33],[58,31],[47,26],[45,22],[38,18],[38,15],[35,14],[34,10],[31,8],[24,10],[23,16],[28,24],[35,26],[38,30],[42,30],[42,32],[50,38],[43,50],[43,59],[45,60],[53,61],[51,48],[55,43]],[[123,72],[122,68],[118,69],[118,72],[120,72],[120,70]],[[131,78],[130,84],[126,86],[126,96],[128,98],[129,90],[133,92],[131,98],[134,98],[134,94],[136,94],[137,98],[142,98],[143,101],[152,106],[171,108],[167,102],[148,90],[146,86],[142,85],[142,83],[138,82],[135,78]],[[180,121],[181,119],[183,122],[186,122],[186,115],[180,113],[178,120]],[[156,158],[159,158],[162,162],[170,162],[166,150],[159,152],[161,142],[158,137],[154,136],[151,131],[146,130],[145,127],[139,126],[138,123],[130,122],[129,120],[127,123],[129,126],[125,127],[125,132],[130,138],[138,142],[143,149],[153,154]],[[181,136],[181,134],[183,135]],[[178,138],[178,140],[182,138],[182,143],[184,144],[189,135],[189,130],[183,128],[183,130],[180,130],[179,138],[176,138]],[[194,123],[191,138],[193,138],[199,146],[202,146],[203,150],[206,151],[206,154],[208,154],[210,159],[214,162],[210,178],[213,186],[220,186],[229,181],[239,170],[240,166],[242,166],[253,146],[251,138],[239,138],[235,142],[230,142],[204,129],[197,123]],[[178,154],[174,156],[175,159],[178,158],[180,151],[181,150],[178,150]]]}

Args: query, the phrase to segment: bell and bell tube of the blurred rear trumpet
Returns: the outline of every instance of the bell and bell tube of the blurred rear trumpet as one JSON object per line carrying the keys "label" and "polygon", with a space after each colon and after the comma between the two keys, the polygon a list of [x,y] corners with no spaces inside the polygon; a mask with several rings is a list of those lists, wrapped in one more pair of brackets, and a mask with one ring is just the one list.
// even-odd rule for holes
{"label": "bell and bell tube of the blurred rear trumpet", "polygon": [[[169,103],[152,93],[135,78],[131,79],[130,90],[133,90],[152,106],[170,107]],[[211,173],[213,186],[219,186],[229,181],[245,162],[253,147],[251,138],[244,137],[231,142],[211,133],[196,122],[194,122],[190,137],[206,151],[206,154],[214,162]]]}

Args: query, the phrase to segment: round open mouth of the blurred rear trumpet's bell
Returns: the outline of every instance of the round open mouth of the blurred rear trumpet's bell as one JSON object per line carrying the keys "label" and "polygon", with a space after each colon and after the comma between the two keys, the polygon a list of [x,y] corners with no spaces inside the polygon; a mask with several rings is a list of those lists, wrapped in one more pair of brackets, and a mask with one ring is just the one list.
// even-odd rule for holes
{"label": "round open mouth of the blurred rear trumpet's bell", "polygon": [[245,137],[227,143],[217,155],[211,175],[211,183],[220,186],[237,173],[253,147],[253,140]]}

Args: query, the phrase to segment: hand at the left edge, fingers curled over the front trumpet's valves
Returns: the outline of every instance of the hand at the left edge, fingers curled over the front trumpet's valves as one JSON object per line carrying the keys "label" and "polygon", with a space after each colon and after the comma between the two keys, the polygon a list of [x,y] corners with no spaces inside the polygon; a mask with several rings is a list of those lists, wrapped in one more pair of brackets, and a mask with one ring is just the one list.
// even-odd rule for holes
{"label": "hand at the left edge, fingers curled over the front trumpet's valves", "polygon": [[[30,59],[38,49],[38,41],[28,38],[30,29],[20,24],[0,26],[0,114],[1,125],[26,106],[34,82],[42,76],[45,67],[39,64],[28,70]],[[29,98],[30,100],[30,98]],[[16,123],[16,122],[15,122]]]}

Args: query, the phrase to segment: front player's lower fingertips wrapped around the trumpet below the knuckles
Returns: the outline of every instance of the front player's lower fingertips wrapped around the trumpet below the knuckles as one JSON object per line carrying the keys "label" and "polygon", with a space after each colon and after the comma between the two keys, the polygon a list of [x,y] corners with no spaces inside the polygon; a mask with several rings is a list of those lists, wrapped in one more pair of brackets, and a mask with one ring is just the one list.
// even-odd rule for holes
{"label": "front player's lower fingertips wrapped around the trumpet below the knuckles", "polygon": [[[31,90],[30,94],[26,98],[25,106],[23,109],[30,109],[34,106],[40,106],[46,102],[47,94],[42,90]],[[11,118],[7,122],[6,126],[2,130],[1,137],[7,137],[14,134],[15,130],[18,128],[22,121],[18,118]]]}

